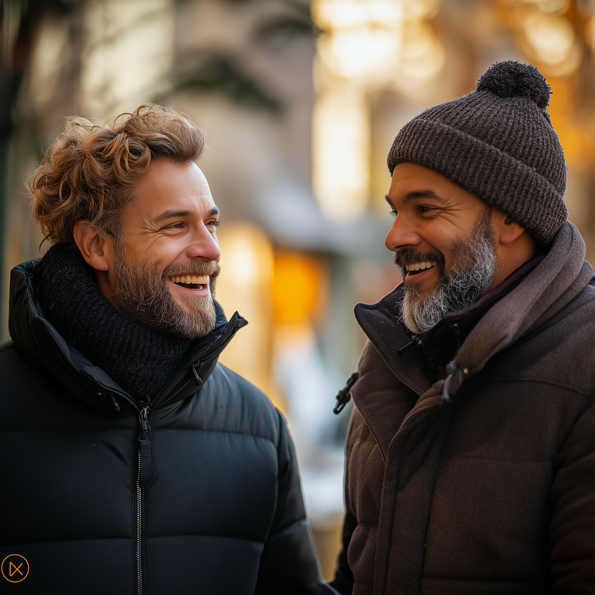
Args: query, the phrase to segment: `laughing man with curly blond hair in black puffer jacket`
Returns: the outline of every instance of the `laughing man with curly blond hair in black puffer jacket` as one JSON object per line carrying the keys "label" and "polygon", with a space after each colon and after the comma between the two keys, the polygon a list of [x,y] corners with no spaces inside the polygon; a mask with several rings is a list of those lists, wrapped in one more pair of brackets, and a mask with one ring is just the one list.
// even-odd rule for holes
{"label": "laughing man with curly blond hair in black puffer jacket", "polygon": [[286,422],[217,363],[246,321],[214,300],[204,148],[182,115],[142,105],[71,118],[29,180],[51,247],[11,273],[0,559],[30,593],[319,580]]}

